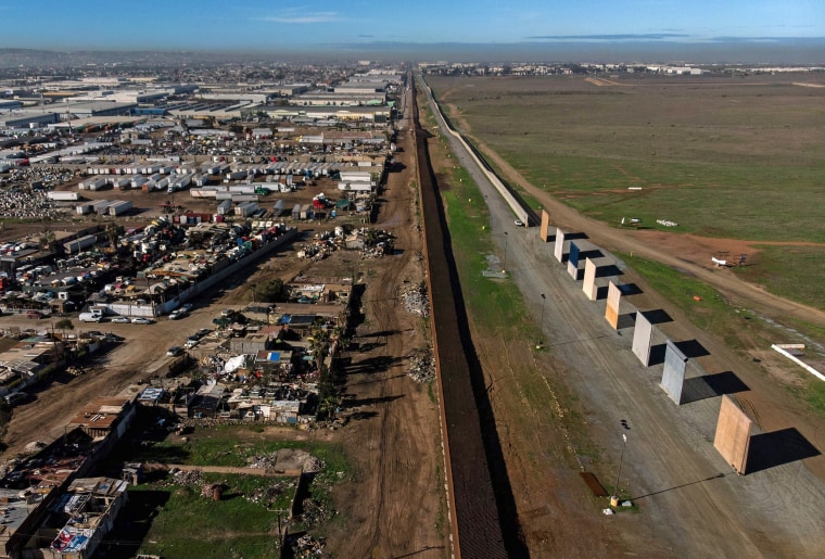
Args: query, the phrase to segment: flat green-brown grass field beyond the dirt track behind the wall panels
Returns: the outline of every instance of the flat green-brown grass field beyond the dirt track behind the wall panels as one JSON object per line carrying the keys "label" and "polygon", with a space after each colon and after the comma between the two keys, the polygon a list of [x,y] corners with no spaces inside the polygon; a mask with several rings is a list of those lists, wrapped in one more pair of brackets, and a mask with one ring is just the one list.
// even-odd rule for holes
{"label": "flat green-brown grass field beyond the dirt track behind the wall panels", "polygon": [[639,218],[662,251],[689,233],[685,259],[745,252],[741,279],[825,309],[825,76],[629,76],[429,81],[533,187],[613,227]]}

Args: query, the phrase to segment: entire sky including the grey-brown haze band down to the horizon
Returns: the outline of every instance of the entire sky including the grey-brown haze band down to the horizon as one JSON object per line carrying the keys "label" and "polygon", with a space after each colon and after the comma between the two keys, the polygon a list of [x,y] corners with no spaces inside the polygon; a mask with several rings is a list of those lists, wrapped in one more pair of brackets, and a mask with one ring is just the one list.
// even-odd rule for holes
{"label": "entire sky including the grey-brown haze band down to the horizon", "polygon": [[821,64],[822,8],[821,0],[419,0],[409,7],[360,0],[0,0],[0,49]]}

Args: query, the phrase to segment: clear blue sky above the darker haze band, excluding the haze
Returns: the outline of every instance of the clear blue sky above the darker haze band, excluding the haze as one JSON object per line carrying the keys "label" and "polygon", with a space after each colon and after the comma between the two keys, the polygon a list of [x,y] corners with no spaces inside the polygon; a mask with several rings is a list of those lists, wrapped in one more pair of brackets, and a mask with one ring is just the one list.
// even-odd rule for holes
{"label": "clear blue sky above the darker haze band, excluding the haze", "polygon": [[328,51],[823,37],[825,0],[0,0],[0,48]]}

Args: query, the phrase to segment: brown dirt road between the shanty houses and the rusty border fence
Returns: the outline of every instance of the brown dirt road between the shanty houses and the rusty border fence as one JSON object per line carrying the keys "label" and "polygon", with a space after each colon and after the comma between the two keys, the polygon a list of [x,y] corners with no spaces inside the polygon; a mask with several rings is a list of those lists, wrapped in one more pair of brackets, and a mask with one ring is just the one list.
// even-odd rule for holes
{"label": "brown dirt road between the shanty houses and the rusty border fence", "polygon": [[409,358],[426,346],[426,321],[406,313],[398,298],[405,282],[423,279],[416,257],[422,239],[412,218],[416,162],[409,117],[405,112],[397,142],[396,160],[404,168],[390,174],[376,224],[396,237],[396,254],[359,263],[366,277],[365,319],[345,368],[343,411],[352,419],[337,435],[352,450],[361,478],[340,487],[337,496],[350,507],[350,517],[328,539],[339,557],[449,554],[437,405],[426,385],[406,374]]}

